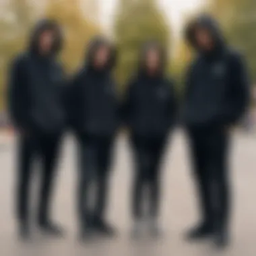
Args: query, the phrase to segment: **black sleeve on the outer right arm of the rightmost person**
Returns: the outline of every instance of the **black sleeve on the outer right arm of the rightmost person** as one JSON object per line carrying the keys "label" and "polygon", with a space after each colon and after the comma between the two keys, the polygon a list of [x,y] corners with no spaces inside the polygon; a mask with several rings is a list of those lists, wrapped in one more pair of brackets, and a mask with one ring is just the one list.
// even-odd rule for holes
{"label": "black sleeve on the outer right arm of the rightmost person", "polygon": [[236,123],[245,114],[250,102],[250,82],[245,59],[234,55],[231,62],[232,83],[230,84],[230,104],[226,110],[226,121]]}

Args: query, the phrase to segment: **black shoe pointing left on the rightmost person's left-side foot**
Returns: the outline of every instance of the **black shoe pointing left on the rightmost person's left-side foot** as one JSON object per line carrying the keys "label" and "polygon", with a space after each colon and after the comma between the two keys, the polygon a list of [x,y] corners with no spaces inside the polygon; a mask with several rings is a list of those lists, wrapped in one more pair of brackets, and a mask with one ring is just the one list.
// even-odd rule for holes
{"label": "black shoe pointing left on the rightmost person's left-side foot", "polygon": [[212,225],[201,224],[200,226],[197,226],[188,232],[187,241],[203,240],[205,238],[209,238],[213,234],[214,229],[212,228]]}

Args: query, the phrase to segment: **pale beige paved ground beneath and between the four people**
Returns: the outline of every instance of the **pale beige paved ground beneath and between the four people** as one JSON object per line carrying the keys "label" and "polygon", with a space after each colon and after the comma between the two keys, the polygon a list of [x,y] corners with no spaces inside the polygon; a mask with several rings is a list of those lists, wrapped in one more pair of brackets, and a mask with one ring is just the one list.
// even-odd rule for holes
{"label": "pale beige paved ground beneath and between the four people", "polygon": [[[1,136],[0,136],[1,137]],[[256,255],[256,135],[236,134],[232,157],[234,214],[232,246],[220,255]],[[117,225],[119,238],[95,241],[81,246],[76,241],[75,220],[75,150],[72,138],[65,141],[55,193],[53,216],[68,230],[67,237],[49,240],[36,232],[30,244],[22,244],[15,236],[13,218],[14,148],[12,139],[0,139],[0,255],[113,255],[113,256],[212,256],[216,251],[210,243],[191,245],[183,241],[183,233],[197,221],[196,197],[187,161],[185,139],[177,133],[168,148],[163,165],[162,224],[166,235],[161,240],[131,241],[129,239],[129,187],[131,185],[131,154],[127,141],[117,141],[117,160],[110,193],[109,219]],[[36,180],[34,189],[37,189]]]}

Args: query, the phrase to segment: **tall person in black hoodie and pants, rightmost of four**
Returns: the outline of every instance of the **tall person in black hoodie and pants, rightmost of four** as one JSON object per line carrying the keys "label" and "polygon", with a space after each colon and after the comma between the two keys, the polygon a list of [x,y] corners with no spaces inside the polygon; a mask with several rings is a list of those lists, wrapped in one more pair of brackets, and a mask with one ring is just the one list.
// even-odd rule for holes
{"label": "tall person in black hoodie and pants, rightmost of four", "polygon": [[228,243],[230,128],[249,103],[245,60],[226,44],[218,24],[201,15],[187,27],[187,40],[197,51],[187,75],[185,125],[199,190],[202,222],[189,239],[212,236]]}

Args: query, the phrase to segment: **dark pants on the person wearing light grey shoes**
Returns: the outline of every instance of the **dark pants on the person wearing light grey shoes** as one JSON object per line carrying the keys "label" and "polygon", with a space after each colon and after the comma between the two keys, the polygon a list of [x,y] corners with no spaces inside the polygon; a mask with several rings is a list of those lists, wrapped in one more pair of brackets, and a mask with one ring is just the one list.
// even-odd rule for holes
{"label": "dark pants on the person wearing light grey shoes", "polygon": [[[164,137],[131,138],[135,156],[135,176],[133,181],[133,218],[143,218],[143,207],[148,203],[148,213],[156,218],[160,201],[160,160],[164,150]],[[146,189],[148,195],[146,197]]]}

